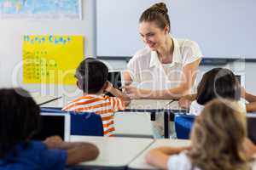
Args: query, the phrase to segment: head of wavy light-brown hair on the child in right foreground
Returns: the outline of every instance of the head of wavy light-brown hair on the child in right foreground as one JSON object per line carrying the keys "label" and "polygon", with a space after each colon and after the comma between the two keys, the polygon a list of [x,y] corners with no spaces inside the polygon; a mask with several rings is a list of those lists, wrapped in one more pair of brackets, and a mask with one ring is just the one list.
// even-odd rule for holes
{"label": "head of wavy light-brown hair on the child in right foreground", "polygon": [[247,136],[245,113],[236,101],[213,99],[195,119],[189,157],[204,170],[247,166],[243,141]]}

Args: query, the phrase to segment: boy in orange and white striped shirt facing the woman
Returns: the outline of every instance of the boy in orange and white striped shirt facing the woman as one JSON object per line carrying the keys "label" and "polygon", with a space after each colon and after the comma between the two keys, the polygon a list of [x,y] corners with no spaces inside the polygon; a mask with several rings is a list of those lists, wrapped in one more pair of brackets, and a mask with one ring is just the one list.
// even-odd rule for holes
{"label": "boy in orange and white striped shirt facing the woman", "polygon": [[[84,96],[67,104],[63,111],[95,112],[102,116],[104,136],[113,136],[113,114],[125,110],[130,98],[108,82],[108,67],[97,59],[84,59],[76,70],[77,85]],[[104,95],[104,91],[116,97]]]}

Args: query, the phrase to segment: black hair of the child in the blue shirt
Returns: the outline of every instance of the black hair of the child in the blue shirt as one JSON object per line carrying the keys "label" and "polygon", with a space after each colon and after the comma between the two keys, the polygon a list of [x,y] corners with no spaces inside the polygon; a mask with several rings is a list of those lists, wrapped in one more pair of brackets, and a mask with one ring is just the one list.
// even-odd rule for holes
{"label": "black hair of the child in the blue shirt", "polygon": [[22,88],[0,89],[0,158],[39,130],[40,109]]}

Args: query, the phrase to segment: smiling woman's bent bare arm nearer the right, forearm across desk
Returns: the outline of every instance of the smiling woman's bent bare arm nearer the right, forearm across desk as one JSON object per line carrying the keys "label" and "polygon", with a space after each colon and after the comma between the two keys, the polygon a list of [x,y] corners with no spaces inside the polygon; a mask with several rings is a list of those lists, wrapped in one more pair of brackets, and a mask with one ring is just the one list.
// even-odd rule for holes
{"label": "smiling woman's bent bare arm nearer the right, forearm across desk", "polygon": [[185,65],[183,67],[181,83],[177,86],[177,88],[155,91],[149,89],[138,89],[133,86],[125,86],[124,88],[128,94],[131,94],[132,98],[180,99],[183,95],[189,94],[189,91],[195,82],[195,77],[200,62],[201,59],[197,59],[189,65]]}

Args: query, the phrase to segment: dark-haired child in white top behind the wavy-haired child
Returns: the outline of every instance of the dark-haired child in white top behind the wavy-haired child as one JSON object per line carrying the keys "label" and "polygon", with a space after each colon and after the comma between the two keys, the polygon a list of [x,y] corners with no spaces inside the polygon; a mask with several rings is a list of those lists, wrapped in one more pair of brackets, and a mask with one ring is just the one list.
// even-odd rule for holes
{"label": "dark-haired child in white top behind the wavy-haired child", "polygon": [[[208,101],[215,98],[229,98],[240,100],[244,98],[246,111],[256,111],[256,96],[248,94],[241,88],[234,73],[224,68],[214,68],[207,71],[197,88],[197,94],[189,94],[179,100],[182,108],[189,108],[191,115],[199,115]],[[192,101],[192,103],[191,103]]]}

